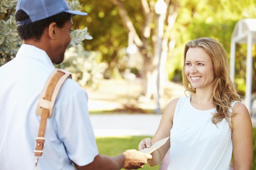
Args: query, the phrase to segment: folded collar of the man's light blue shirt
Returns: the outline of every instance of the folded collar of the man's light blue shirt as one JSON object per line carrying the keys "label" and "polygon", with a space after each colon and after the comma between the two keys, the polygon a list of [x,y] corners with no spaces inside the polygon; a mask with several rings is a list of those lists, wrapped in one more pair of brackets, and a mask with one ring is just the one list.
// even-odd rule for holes
{"label": "folded collar of the man's light blue shirt", "polygon": [[47,53],[44,50],[32,45],[22,44],[16,54],[16,57],[31,57],[54,67]]}

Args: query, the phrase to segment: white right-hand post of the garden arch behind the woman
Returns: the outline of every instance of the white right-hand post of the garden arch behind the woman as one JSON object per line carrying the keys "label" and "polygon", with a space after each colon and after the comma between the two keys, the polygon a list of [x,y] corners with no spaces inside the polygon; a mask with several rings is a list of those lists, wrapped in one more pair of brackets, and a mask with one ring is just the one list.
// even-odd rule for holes
{"label": "white right-hand post of the garden arch behind the woman", "polygon": [[251,114],[251,96],[252,96],[252,33],[247,36],[247,57],[246,57],[246,90],[245,90],[245,105]]}

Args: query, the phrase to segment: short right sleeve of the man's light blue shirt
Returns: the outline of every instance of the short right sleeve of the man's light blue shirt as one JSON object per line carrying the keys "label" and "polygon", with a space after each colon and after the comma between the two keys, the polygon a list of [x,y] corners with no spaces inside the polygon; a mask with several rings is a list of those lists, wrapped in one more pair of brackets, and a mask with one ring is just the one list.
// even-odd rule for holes
{"label": "short right sleeve of the man's light blue shirt", "polygon": [[64,95],[56,114],[57,134],[67,155],[77,165],[93,162],[98,148],[88,113],[88,96],[82,88]]}

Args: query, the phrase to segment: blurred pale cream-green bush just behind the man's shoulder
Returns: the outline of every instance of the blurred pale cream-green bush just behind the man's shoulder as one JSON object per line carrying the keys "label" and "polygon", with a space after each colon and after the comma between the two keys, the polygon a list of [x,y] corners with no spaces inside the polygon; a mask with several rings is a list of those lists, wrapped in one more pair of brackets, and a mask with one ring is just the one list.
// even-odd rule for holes
{"label": "blurred pale cream-green bush just behind the man's shoulder", "polygon": [[68,48],[64,61],[57,68],[65,68],[71,72],[72,79],[82,87],[97,88],[107,66],[106,63],[100,62],[101,58],[100,52],[86,51],[79,44]]}

